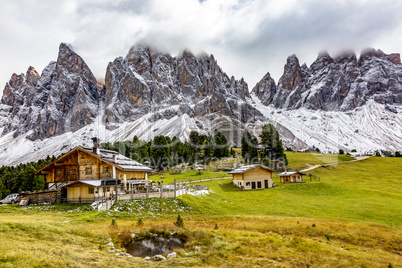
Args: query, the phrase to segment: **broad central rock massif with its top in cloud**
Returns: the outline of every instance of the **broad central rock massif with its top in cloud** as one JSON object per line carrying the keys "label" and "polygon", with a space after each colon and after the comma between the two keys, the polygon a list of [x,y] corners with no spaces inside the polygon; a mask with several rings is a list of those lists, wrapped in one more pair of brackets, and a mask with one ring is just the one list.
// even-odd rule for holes
{"label": "broad central rock massif with its top in cloud", "polygon": [[104,122],[110,127],[153,113],[153,120],[176,115],[226,115],[246,122],[260,115],[248,103],[247,83],[229,78],[214,57],[184,51],[178,57],[138,45],[106,70]]}

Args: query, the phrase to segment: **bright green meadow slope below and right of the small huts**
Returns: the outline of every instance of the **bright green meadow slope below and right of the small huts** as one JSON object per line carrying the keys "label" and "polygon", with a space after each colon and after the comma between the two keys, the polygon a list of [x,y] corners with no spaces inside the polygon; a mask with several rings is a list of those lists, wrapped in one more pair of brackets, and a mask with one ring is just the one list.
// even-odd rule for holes
{"label": "bright green meadow slope below and right of the small huts", "polygon": [[239,191],[230,179],[207,182],[214,192],[180,197],[200,214],[307,216],[402,226],[402,159],[372,157],[311,171],[320,180]]}

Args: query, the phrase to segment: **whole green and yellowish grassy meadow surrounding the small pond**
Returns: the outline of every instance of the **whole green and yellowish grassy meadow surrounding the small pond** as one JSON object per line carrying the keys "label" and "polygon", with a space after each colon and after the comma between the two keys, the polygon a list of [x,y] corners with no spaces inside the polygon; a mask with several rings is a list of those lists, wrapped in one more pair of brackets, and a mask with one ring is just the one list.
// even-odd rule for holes
{"label": "whole green and yellowish grassy meadow surrounding the small pond", "polygon": [[[205,182],[207,195],[121,201],[107,212],[0,206],[0,267],[402,267],[402,159],[372,157],[314,174],[320,181],[275,177],[275,188],[244,192],[228,179]],[[184,228],[173,224],[178,214]],[[163,262],[107,251],[108,238],[119,245],[118,234],[150,229],[188,241]]]}

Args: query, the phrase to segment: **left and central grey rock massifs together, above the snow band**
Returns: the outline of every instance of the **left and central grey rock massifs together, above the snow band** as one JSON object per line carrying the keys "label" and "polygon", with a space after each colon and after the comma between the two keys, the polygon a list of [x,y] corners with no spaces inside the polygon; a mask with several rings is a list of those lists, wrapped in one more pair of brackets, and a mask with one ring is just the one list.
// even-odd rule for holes
{"label": "left and central grey rock massifs together, above the snow band", "polygon": [[[228,129],[229,136],[233,128],[261,116],[251,103],[247,83],[229,77],[212,55],[184,51],[172,57],[137,45],[108,64],[102,87],[72,47],[61,44],[57,61],[42,75],[30,67],[6,84],[0,130],[34,141],[75,132],[102,115],[108,130],[141,118],[148,124],[177,118],[169,134],[177,136],[182,133],[177,123],[192,118],[192,128]],[[239,136],[231,135],[231,141]]]}

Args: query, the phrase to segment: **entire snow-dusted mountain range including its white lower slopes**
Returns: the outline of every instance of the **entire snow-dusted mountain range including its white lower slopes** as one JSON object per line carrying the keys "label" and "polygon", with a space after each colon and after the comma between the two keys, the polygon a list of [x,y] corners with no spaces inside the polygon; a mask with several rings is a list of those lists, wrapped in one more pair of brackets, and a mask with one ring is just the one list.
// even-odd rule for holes
{"label": "entire snow-dusted mountain range including its white lower slopes", "polygon": [[[300,67],[291,56],[279,91],[268,73],[250,94],[247,84],[229,78],[212,55],[195,57],[184,52],[173,58],[144,46],[110,63],[102,88],[72,47],[62,44],[58,61],[40,77],[30,68],[26,76],[13,75],[6,85],[7,94],[0,103],[0,166],[57,156],[77,145],[90,146],[94,136],[102,142],[132,140],[134,136],[148,141],[157,135],[184,141],[191,130],[212,133],[218,128],[229,141],[239,144],[244,128],[258,136],[266,123],[274,124],[284,145],[295,150],[402,151],[399,55],[369,53],[364,55],[363,67],[355,56],[332,60],[324,55],[309,69]],[[384,78],[387,73],[389,82]],[[336,83],[342,88],[328,86],[327,81],[343,74],[349,75],[346,82],[341,78]],[[387,83],[392,92],[387,92]],[[360,89],[362,86],[367,89]],[[333,104],[322,102],[321,87],[330,92]],[[359,92],[368,97],[357,103],[353,96]],[[304,107],[298,96],[307,94],[314,98]],[[349,108],[316,109],[315,99],[320,105],[345,107],[346,103]],[[383,104],[390,100],[391,105]],[[52,122],[50,128],[46,122]]]}

